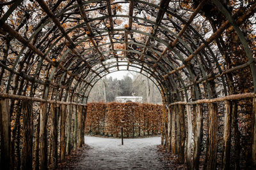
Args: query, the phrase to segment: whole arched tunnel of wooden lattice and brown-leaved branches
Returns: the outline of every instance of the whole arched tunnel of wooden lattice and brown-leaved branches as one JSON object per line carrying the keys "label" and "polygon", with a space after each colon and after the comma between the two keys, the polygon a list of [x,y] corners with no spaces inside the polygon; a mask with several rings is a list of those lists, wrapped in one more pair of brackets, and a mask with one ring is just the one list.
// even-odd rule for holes
{"label": "whole arched tunnel of wooden lattice and brown-leaved branches", "polygon": [[90,90],[121,70],[156,82],[164,145],[188,169],[255,169],[255,11],[232,0],[0,1],[1,169],[56,168],[67,140],[84,143]]}

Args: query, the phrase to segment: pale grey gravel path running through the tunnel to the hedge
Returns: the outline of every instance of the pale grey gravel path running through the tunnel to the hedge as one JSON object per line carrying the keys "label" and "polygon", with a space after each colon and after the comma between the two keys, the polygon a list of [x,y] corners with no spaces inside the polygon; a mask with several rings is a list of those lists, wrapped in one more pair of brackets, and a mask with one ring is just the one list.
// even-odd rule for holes
{"label": "pale grey gravel path running through the tunnel to the hedge", "polygon": [[90,149],[75,169],[164,169],[157,159],[161,138],[121,139],[85,137]]}

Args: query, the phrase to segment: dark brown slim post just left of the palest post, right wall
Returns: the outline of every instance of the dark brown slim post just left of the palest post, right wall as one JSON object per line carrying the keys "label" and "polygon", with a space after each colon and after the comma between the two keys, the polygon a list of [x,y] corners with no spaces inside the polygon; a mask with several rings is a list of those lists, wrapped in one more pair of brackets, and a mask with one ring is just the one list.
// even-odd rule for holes
{"label": "dark brown slim post just left of the palest post, right wall", "polygon": [[184,164],[184,148],[186,141],[186,130],[185,130],[185,115],[184,106],[179,104],[179,118],[180,118],[180,150],[179,150],[179,163]]}

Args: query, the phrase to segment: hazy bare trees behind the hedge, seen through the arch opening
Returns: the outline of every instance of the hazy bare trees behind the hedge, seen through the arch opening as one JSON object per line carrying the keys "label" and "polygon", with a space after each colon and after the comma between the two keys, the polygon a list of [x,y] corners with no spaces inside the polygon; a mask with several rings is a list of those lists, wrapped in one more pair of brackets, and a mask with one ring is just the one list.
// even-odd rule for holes
{"label": "hazy bare trees behind the hedge, seen through the arch opening", "polygon": [[113,102],[116,96],[142,96],[143,103],[161,103],[162,97],[156,85],[141,74],[116,78],[100,79],[88,98],[88,102]]}

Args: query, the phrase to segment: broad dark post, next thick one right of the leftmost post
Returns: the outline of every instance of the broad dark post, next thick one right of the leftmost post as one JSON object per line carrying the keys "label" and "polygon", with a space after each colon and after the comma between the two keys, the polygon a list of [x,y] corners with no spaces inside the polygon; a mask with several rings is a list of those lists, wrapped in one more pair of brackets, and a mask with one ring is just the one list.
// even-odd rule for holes
{"label": "broad dark post, next thick one right of the leftmost post", "polygon": [[33,106],[31,101],[22,101],[23,138],[21,169],[32,169],[33,162]]}

